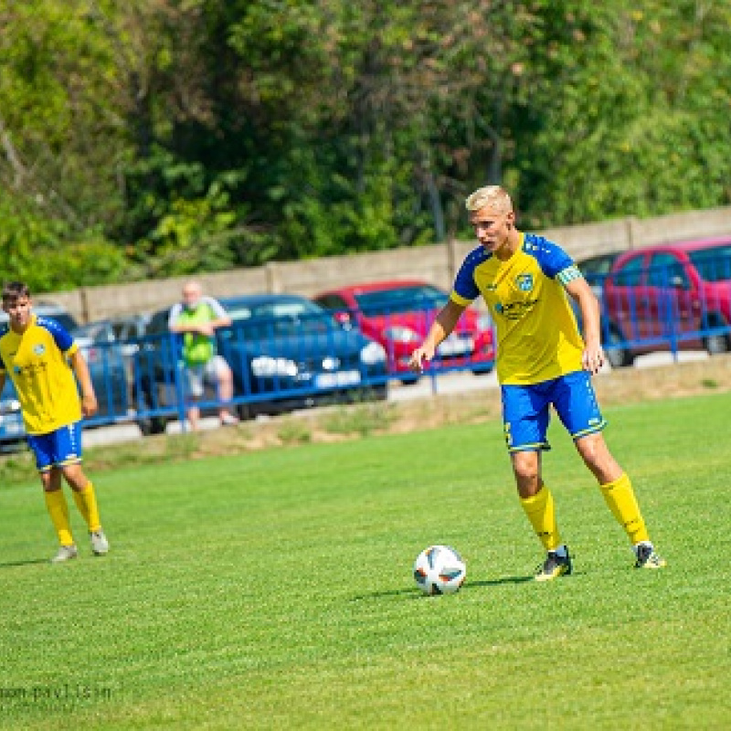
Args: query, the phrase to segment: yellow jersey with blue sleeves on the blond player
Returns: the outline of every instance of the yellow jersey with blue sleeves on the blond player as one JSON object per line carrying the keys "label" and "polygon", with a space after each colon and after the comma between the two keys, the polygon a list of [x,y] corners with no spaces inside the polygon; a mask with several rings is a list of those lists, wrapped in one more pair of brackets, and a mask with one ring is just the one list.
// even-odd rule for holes
{"label": "yellow jersey with blue sleeves on the blond player", "polygon": [[461,265],[450,298],[467,306],[480,294],[495,323],[496,371],[504,386],[526,386],[581,370],[584,342],[564,285],[581,273],[567,253],[520,234],[507,261],[483,246]]}

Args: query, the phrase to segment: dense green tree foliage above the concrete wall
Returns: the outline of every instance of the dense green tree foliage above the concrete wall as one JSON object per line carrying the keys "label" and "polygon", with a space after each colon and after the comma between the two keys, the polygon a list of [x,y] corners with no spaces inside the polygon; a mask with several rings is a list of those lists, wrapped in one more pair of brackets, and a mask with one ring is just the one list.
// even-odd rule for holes
{"label": "dense green tree foliage above the concrete wall", "polygon": [[[0,255],[35,290],[727,205],[731,5],[0,0]],[[42,266],[38,262],[42,261]]]}

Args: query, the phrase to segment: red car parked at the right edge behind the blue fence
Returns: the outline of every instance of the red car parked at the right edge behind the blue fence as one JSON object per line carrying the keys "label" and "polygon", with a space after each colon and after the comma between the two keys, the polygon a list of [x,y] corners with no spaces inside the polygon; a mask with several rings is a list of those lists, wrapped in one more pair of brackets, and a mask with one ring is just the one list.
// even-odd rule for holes
{"label": "red car parked at the right edge behind the blue fence", "polygon": [[731,237],[627,251],[604,282],[609,363],[657,350],[731,350]]}

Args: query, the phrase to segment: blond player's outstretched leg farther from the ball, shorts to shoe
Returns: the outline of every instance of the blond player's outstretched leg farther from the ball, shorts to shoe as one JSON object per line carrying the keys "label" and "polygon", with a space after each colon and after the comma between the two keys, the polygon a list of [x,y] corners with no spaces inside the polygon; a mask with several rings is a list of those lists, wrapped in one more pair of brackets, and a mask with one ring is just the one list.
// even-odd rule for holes
{"label": "blond player's outstretched leg farther from the ball, shorts to shoe", "polygon": [[597,478],[609,510],[622,526],[638,567],[659,568],[664,561],[652,547],[629,475],[609,452],[606,426],[587,373],[569,374],[556,387],[556,412],[571,433],[581,459]]}

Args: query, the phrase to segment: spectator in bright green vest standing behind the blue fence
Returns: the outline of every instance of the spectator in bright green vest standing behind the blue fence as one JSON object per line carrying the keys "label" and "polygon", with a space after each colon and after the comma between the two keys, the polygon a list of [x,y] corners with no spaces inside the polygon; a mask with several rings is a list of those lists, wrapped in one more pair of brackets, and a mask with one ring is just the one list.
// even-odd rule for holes
{"label": "spectator in bright green vest standing behind the blue fence", "polygon": [[231,324],[226,310],[213,297],[203,294],[200,282],[187,281],[183,287],[183,302],[171,308],[167,324],[171,333],[183,335],[186,395],[191,399],[187,408],[190,428],[198,429],[200,408],[197,401],[203,397],[207,383],[217,387],[221,424],[237,424],[238,418],[227,406],[234,395],[231,369],[216,352],[216,328]]}

